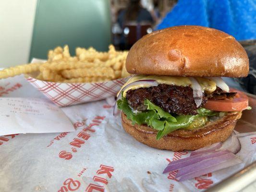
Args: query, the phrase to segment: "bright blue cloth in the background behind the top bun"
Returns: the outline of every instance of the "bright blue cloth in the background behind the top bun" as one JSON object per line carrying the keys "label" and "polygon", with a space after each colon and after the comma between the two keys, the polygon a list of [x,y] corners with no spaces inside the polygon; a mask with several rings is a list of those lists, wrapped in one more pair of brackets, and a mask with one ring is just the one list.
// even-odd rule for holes
{"label": "bright blue cloth in the background behind the top bun", "polygon": [[201,25],[237,40],[256,39],[256,0],[179,0],[157,26]]}

